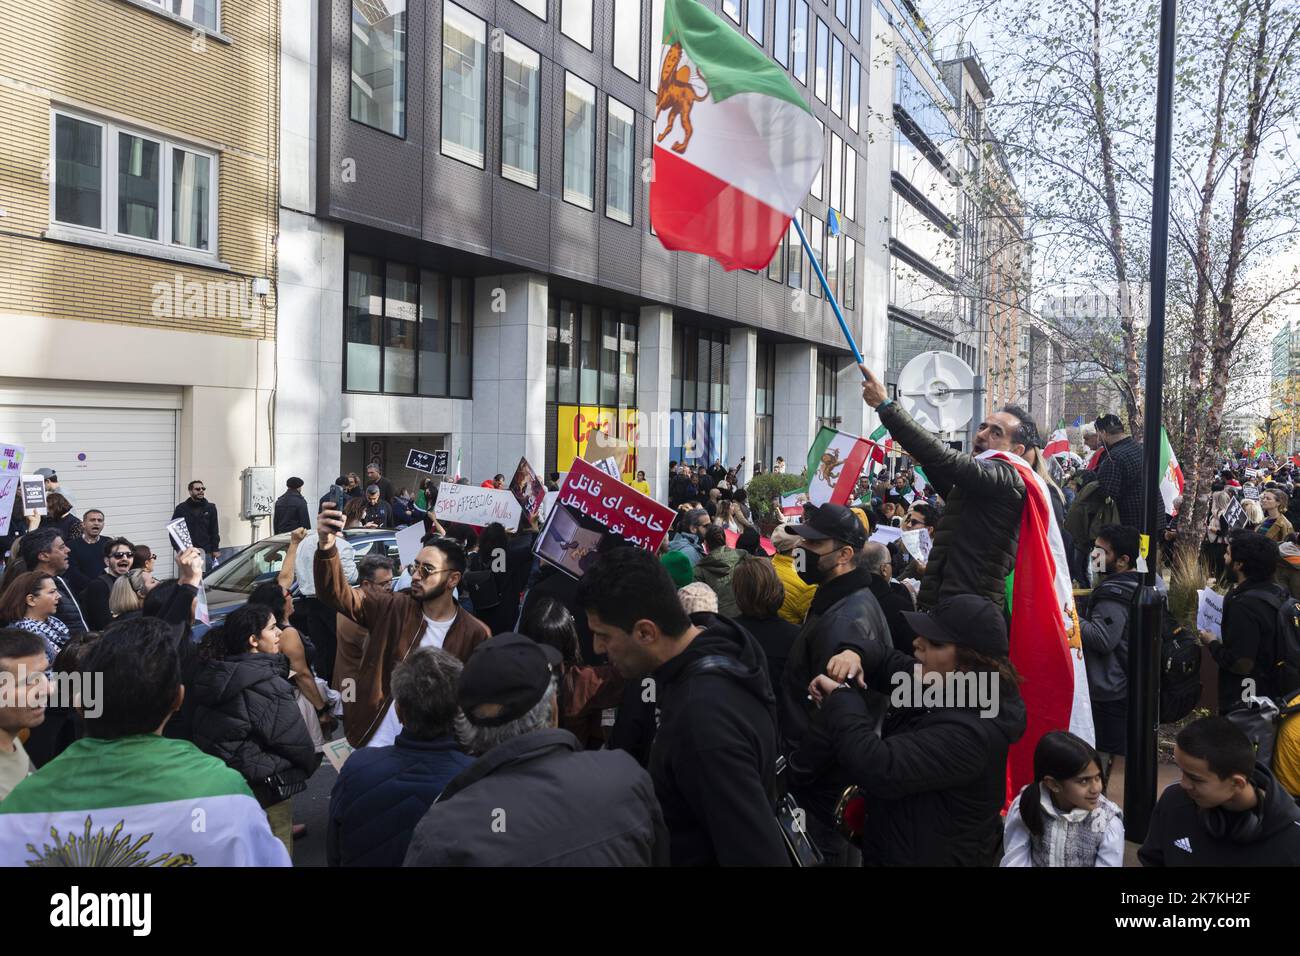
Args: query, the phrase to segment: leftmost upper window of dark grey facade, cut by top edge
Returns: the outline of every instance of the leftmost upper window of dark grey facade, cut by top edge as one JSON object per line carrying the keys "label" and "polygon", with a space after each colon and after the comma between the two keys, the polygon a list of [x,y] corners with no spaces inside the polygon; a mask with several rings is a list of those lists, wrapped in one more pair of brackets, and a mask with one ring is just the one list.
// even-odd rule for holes
{"label": "leftmost upper window of dark grey facade, cut by top edge", "polygon": [[351,116],[403,138],[406,39],[406,0],[352,0]]}

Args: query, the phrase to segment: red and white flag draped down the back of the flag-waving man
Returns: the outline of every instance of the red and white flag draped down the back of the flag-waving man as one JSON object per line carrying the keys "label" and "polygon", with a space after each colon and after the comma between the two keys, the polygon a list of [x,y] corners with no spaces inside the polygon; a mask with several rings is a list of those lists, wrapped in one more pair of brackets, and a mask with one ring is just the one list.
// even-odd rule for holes
{"label": "red and white flag draped down the back of the flag-waving man", "polygon": [[1015,548],[1011,589],[1011,663],[1020,674],[1024,736],[1011,744],[1006,762],[1008,803],[1034,779],[1034,748],[1048,731],[1067,730],[1093,743],[1092,701],[1083,665],[1079,617],[1046,483],[1019,455],[988,450],[1024,483],[1024,511]]}

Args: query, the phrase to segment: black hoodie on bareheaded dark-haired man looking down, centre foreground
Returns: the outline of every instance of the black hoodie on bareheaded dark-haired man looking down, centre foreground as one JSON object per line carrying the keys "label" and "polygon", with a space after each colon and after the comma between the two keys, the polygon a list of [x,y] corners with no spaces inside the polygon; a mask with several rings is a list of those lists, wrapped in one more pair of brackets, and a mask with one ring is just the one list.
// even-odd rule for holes
{"label": "black hoodie on bareheaded dark-haired man looking down, centre foreground", "polygon": [[[703,657],[738,661],[744,679],[688,672]],[[788,866],[772,808],[776,726],[763,649],[714,618],[653,675],[660,708],[650,777],[673,866]]]}

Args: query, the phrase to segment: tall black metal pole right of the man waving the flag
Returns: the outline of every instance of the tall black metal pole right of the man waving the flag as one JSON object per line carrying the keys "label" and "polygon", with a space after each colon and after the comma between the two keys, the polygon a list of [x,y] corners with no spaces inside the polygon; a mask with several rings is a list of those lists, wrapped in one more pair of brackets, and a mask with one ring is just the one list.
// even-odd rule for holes
{"label": "tall black metal pole right of the man waving the flag", "polygon": [[1124,761],[1124,836],[1143,840],[1156,805],[1156,730],[1160,723],[1160,636],[1164,605],[1156,592],[1160,494],[1160,425],[1165,384],[1165,273],[1169,247],[1169,166],[1174,125],[1174,35],[1176,0],[1160,4],[1160,65],[1156,79],[1156,163],[1150,203],[1150,321],[1147,326],[1147,398],[1143,416],[1143,533],[1147,575],[1128,641],[1128,754]]}

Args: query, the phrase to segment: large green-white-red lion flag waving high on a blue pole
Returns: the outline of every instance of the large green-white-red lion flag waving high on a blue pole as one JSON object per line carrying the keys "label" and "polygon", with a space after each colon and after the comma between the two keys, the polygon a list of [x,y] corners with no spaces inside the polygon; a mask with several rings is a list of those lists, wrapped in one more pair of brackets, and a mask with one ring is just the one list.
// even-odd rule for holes
{"label": "large green-white-red lion flag waving high on a blue pole", "polygon": [[666,248],[762,269],[822,166],[789,75],[697,0],[667,0],[650,222]]}

